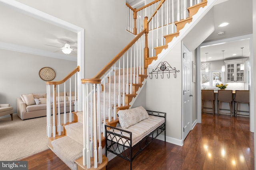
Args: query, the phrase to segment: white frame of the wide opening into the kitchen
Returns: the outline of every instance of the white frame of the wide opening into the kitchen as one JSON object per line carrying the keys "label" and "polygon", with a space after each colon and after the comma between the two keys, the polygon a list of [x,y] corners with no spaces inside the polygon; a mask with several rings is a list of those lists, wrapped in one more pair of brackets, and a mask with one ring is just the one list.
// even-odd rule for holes
{"label": "white frame of the wide opening into the kitchen", "polygon": [[238,41],[241,39],[249,39],[249,47],[250,47],[250,56],[249,56],[249,61],[250,61],[250,131],[254,133],[254,65],[253,65],[253,43],[252,43],[252,34],[248,35],[242,35],[238,37],[232,37],[232,38],[227,38],[227,39],[221,39],[217,41],[210,41],[208,43],[202,43],[197,47],[197,67],[196,67],[196,72],[197,72],[197,123],[202,123],[202,113],[201,113],[201,62],[200,62],[200,47],[205,46],[205,45],[214,45],[218,43],[226,43],[226,42],[231,42],[231,41]]}

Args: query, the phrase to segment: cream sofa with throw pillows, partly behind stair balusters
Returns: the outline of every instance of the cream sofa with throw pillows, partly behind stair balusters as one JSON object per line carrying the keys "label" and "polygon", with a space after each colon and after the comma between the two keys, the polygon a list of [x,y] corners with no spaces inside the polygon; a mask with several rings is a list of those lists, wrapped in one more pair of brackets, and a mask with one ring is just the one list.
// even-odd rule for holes
{"label": "cream sofa with throw pillows, partly behind stair balusters", "polygon": [[[57,94],[58,95],[58,94]],[[52,96],[52,94],[51,94]],[[66,112],[70,111],[70,100],[71,100],[71,110],[74,111],[74,92],[67,92],[64,97],[64,92],[60,93],[60,113],[64,113],[64,98],[66,98]],[[51,97],[51,102],[53,98]],[[58,97],[56,98],[58,101]],[[58,102],[56,104],[58,113]],[[53,104],[51,103],[51,108]],[[52,114],[51,109],[51,114]],[[36,93],[36,94],[22,94],[20,98],[17,98],[17,115],[20,119],[31,119],[35,117],[46,116],[46,93]]]}

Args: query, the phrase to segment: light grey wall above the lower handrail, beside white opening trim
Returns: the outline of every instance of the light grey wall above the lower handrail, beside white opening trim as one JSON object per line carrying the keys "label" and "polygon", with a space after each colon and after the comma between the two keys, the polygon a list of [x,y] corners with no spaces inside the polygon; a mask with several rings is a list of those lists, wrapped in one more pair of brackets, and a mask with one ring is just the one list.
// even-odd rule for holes
{"label": "light grey wall above the lower handrail, beside white opening trim", "polygon": [[95,76],[134,38],[125,28],[125,0],[17,1],[85,29],[85,78]]}

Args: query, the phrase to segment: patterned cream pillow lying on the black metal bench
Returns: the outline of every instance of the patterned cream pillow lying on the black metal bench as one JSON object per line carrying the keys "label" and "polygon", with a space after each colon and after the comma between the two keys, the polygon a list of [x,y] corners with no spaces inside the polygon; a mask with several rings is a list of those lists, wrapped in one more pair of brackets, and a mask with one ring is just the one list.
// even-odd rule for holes
{"label": "patterned cream pillow lying on the black metal bench", "polygon": [[142,106],[119,110],[117,114],[122,128],[128,128],[149,117],[148,112]]}

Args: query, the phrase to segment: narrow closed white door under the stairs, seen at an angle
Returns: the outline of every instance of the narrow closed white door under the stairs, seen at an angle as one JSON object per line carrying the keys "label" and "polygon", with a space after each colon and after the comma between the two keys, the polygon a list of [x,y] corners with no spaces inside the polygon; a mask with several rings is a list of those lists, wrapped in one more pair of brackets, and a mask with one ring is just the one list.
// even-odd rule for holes
{"label": "narrow closed white door under the stairs, seen at an angle", "polygon": [[192,93],[191,93],[191,52],[183,45],[182,58],[182,90],[183,90],[183,141],[192,125]]}

